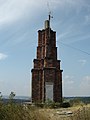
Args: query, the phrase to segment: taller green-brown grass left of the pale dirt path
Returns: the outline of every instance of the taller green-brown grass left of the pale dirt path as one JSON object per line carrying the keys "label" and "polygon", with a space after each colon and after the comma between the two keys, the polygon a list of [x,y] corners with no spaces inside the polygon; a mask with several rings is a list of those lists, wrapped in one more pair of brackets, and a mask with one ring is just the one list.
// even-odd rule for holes
{"label": "taller green-brown grass left of the pale dirt path", "polygon": [[0,104],[0,120],[49,120],[39,109],[19,104]]}

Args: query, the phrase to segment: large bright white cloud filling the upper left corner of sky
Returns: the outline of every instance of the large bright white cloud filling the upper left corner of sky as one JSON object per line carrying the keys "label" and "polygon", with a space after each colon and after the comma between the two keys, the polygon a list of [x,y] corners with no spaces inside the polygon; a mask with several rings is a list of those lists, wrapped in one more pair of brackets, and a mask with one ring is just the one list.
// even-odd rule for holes
{"label": "large bright white cloud filling the upper left corner of sky", "polygon": [[0,4],[0,25],[25,18],[28,13],[32,17],[39,6],[40,4],[33,0],[5,0]]}

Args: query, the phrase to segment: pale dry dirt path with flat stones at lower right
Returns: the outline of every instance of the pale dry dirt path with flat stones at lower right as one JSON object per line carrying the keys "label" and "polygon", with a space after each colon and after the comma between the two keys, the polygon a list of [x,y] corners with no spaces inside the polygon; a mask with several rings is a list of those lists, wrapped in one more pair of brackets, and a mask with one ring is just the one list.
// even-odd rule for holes
{"label": "pale dry dirt path with flat stones at lower right", "polygon": [[90,120],[90,105],[60,109],[40,109],[50,120]]}

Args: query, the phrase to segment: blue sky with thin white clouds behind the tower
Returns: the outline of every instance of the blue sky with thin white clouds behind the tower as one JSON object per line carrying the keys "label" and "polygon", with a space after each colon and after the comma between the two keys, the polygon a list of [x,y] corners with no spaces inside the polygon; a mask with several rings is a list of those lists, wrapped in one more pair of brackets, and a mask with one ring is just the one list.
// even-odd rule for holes
{"label": "blue sky with thin white clouds behind the tower", "polygon": [[[49,6],[48,6],[49,5]],[[51,11],[63,96],[90,96],[90,0],[0,0],[0,92],[31,96],[38,30]]]}

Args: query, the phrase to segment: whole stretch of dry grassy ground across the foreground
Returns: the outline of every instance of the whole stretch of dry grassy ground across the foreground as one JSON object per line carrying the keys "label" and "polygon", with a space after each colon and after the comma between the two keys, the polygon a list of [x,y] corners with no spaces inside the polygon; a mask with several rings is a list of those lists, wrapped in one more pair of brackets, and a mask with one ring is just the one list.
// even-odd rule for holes
{"label": "whole stretch of dry grassy ground across the foreground", "polygon": [[[73,114],[60,115],[57,111],[72,111]],[[51,109],[1,102],[0,120],[90,120],[90,105]]]}

